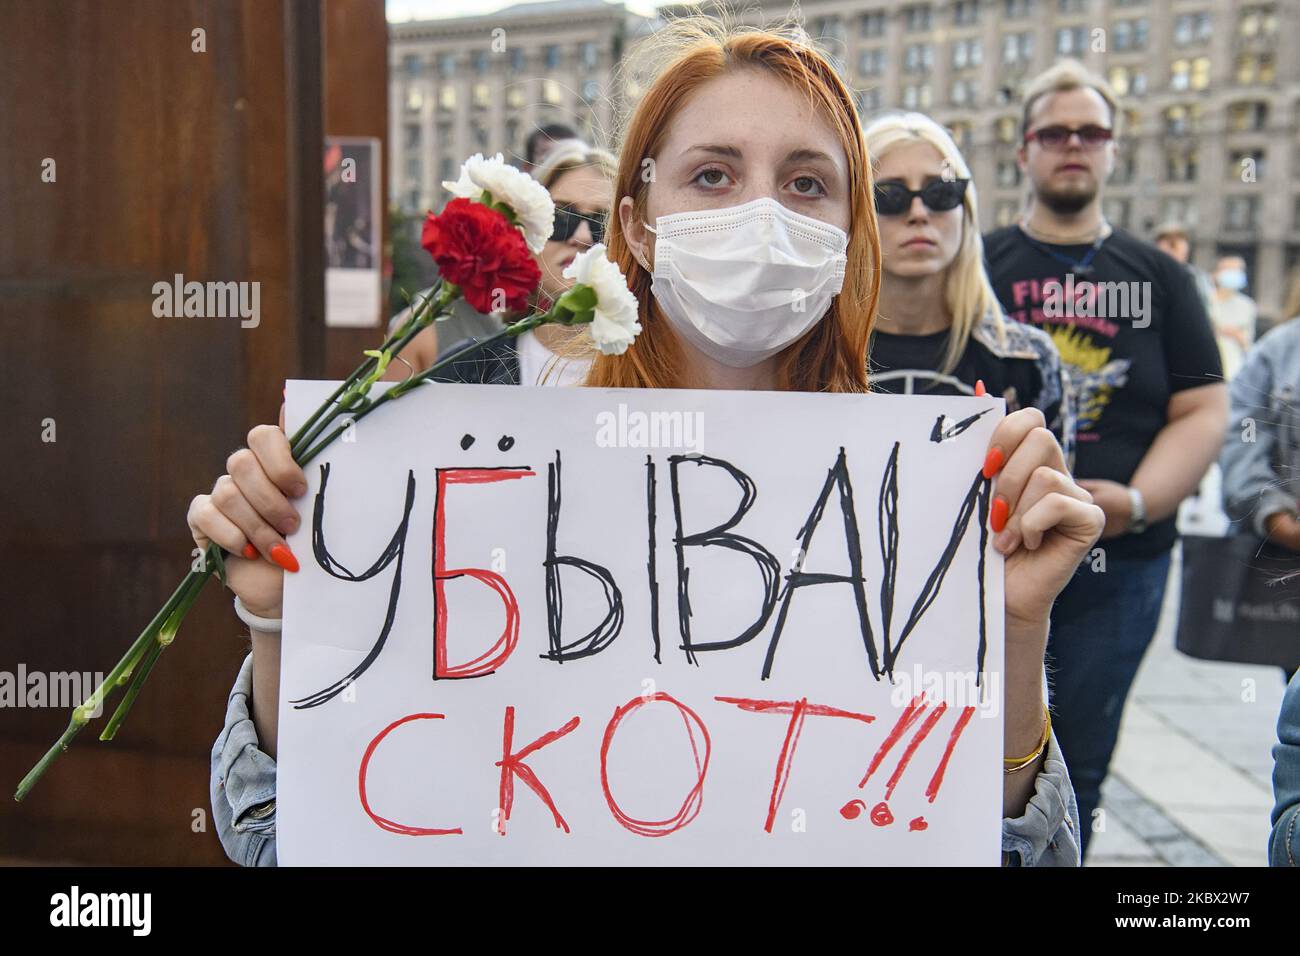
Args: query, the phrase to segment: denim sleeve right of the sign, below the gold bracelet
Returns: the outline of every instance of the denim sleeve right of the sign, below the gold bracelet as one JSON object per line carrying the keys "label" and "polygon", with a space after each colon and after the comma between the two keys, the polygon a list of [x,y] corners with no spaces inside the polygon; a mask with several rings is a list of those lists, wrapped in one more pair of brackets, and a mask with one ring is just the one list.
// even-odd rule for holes
{"label": "denim sleeve right of the sign, below the gold bracelet", "polygon": [[1079,865],[1079,804],[1056,734],[1024,813],[1002,821],[1002,865]]}

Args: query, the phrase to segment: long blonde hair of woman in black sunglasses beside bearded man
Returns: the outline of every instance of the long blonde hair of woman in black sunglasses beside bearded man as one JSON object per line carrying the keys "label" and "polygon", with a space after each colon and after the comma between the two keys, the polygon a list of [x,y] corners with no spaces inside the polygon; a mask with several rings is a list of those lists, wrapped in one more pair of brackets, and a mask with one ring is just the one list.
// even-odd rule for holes
{"label": "long blonde hair of woman in black sunglasses beside bearded man", "polygon": [[[942,126],[922,113],[892,113],[871,122],[863,138],[872,161],[879,164],[890,150],[911,143],[926,143],[933,147],[958,179],[970,179],[971,170],[962,159],[961,150]],[[872,170],[875,172],[875,170]],[[984,272],[984,239],[979,232],[979,204],[975,196],[975,183],[966,186],[962,200],[962,242],[957,255],[948,264],[944,278],[944,304],[952,316],[952,332],[948,336],[948,350],[944,354],[940,371],[952,372],[966,351],[971,333],[985,313],[992,312],[997,325],[998,339],[1005,343],[1006,329],[1002,323],[1002,308]]]}

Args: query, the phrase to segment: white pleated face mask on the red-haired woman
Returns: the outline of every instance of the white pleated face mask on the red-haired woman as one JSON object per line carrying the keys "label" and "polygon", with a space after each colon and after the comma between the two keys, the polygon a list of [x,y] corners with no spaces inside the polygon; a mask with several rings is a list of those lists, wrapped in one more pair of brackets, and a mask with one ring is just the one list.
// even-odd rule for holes
{"label": "white pleated face mask on the red-haired woman", "polygon": [[797,339],[844,285],[842,229],[775,199],[660,216],[650,290],[673,329],[714,360],[748,368]]}

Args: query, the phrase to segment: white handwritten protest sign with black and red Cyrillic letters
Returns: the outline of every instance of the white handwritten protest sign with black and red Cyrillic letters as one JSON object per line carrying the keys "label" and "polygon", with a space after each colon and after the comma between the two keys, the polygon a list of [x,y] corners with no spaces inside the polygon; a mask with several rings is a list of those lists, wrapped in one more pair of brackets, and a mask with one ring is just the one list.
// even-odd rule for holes
{"label": "white handwritten protest sign with black and red Cyrillic letters", "polygon": [[358,423],[289,540],[280,861],[997,864],[1004,407],[429,385]]}

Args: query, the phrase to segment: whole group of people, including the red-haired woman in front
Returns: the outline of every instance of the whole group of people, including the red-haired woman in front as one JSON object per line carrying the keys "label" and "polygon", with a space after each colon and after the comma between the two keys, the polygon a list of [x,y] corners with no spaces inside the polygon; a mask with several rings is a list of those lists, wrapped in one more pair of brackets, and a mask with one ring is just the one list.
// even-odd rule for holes
{"label": "whole group of people, including the red-haired woman in front", "polygon": [[[1254,342],[1240,259],[1221,259],[1209,277],[1188,264],[1186,228],[1165,224],[1147,241],[1106,221],[1121,111],[1075,61],[1027,86],[1027,204],[1018,222],[982,235],[971,172],[948,131],[919,113],[863,129],[833,66],[797,34],[692,18],[653,48],[660,69],[616,155],[551,125],[529,137],[520,163],[556,207],[532,307],[545,310],[569,285],[573,256],[603,242],[640,300],[642,336],[607,356],[588,352],[580,333],[543,326],[452,364],[446,380],[1004,398],[985,463],[998,473],[991,524],[1008,558],[1004,864],[1079,865],[1160,619],[1179,505],[1222,455],[1228,509],[1300,554],[1300,323]],[[824,303],[790,308],[776,280],[732,268],[751,254],[744,226],[728,222],[750,207],[776,235],[798,225],[844,250]],[[694,272],[656,256],[680,242],[655,229],[675,213],[711,237],[690,250]],[[829,252],[784,251],[828,274]],[[719,291],[729,274],[753,278]],[[390,376],[516,317],[460,308]],[[1296,315],[1300,276],[1284,310]],[[1234,428],[1247,416],[1260,423],[1249,444]],[[302,488],[282,429],[265,425],[190,510],[200,546],[255,555],[230,559],[230,587],[261,627],[251,627],[212,754],[218,832],[244,864],[274,862],[278,633],[265,622],[280,617],[287,563],[276,555],[287,553],[282,532],[296,527]],[[1296,680],[1279,734],[1270,858],[1295,865]]]}

